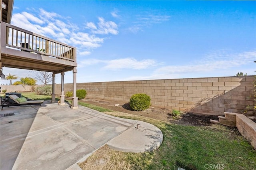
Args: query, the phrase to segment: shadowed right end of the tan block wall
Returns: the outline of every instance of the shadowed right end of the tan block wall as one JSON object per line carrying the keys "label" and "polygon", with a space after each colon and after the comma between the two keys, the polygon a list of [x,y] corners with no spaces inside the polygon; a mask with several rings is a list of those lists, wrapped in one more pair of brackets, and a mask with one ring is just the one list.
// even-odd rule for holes
{"label": "shadowed right end of the tan block wall", "polygon": [[[242,77],[238,81],[238,86],[230,86],[234,82],[224,82],[224,86],[217,86],[216,94],[211,98],[204,97],[198,101],[188,112],[202,113],[207,115],[224,115],[224,112],[241,113],[245,115],[255,115],[254,101],[254,77]],[[229,90],[230,88],[230,90]],[[246,112],[245,112],[246,111]]]}

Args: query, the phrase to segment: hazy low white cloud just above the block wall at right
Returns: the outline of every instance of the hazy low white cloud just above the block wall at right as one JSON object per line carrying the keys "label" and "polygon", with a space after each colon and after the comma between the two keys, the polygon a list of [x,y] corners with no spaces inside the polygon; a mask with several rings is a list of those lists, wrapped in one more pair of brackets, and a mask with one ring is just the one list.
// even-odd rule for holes
{"label": "hazy low white cloud just above the block wall at right", "polygon": [[254,75],[254,69],[244,66],[254,65],[253,61],[255,60],[256,51],[241,53],[216,51],[205,55],[201,61],[194,61],[191,64],[168,65],[155,69],[149,75],[143,76],[141,73],[140,76],[125,77],[118,81],[193,78],[195,75],[196,77],[233,76],[238,71]]}

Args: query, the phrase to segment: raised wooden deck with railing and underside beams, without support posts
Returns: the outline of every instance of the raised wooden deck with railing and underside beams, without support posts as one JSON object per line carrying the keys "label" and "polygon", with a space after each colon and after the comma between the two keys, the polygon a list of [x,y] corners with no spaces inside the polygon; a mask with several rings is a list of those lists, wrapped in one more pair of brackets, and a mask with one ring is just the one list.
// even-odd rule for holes
{"label": "raised wooden deck with railing and underside beams, without support posts", "polygon": [[77,67],[75,47],[5,22],[0,24],[2,67],[48,71],[54,74]]}

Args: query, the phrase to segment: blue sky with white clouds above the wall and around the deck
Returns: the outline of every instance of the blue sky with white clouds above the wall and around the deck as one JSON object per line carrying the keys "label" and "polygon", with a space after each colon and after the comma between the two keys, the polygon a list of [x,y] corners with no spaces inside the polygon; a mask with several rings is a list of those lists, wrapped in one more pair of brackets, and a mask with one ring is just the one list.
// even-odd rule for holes
{"label": "blue sky with white clouds above the wall and around the deck", "polygon": [[[256,70],[256,1],[15,0],[11,24],[76,47],[78,83]],[[64,83],[72,81],[66,72]]]}

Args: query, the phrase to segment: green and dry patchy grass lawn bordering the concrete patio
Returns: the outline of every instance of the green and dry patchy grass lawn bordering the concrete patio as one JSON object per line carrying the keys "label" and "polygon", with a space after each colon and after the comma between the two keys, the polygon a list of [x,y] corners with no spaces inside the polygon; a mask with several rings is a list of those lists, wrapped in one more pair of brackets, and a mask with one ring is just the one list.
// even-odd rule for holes
{"label": "green and dry patchy grass lawn bordering the concrete patio", "polygon": [[[22,95],[31,99],[50,98],[32,93]],[[146,117],[110,112],[87,103],[78,104],[109,115],[151,123],[160,128],[164,135],[160,148],[149,153],[119,152],[103,146],[79,164],[82,169],[177,170],[181,167],[186,170],[205,170],[210,169],[212,164],[215,169],[256,170],[256,150],[236,128],[215,124],[207,127],[175,125]]]}

